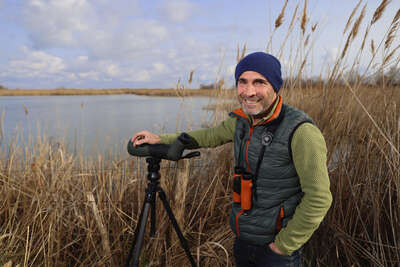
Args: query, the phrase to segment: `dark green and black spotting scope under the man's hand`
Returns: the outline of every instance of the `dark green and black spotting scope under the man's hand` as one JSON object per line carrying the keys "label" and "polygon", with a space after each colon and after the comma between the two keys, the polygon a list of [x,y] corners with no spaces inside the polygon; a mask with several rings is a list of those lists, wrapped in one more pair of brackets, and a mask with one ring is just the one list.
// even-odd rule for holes
{"label": "dark green and black spotting scope under the man's hand", "polygon": [[153,157],[158,159],[166,159],[178,161],[180,159],[193,158],[200,156],[200,152],[195,151],[182,155],[183,151],[190,147],[191,144],[196,142],[193,137],[187,133],[182,133],[170,145],[164,144],[143,144],[140,146],[133,146],[131,140],[128,142],[128,153],[136,157]]}

